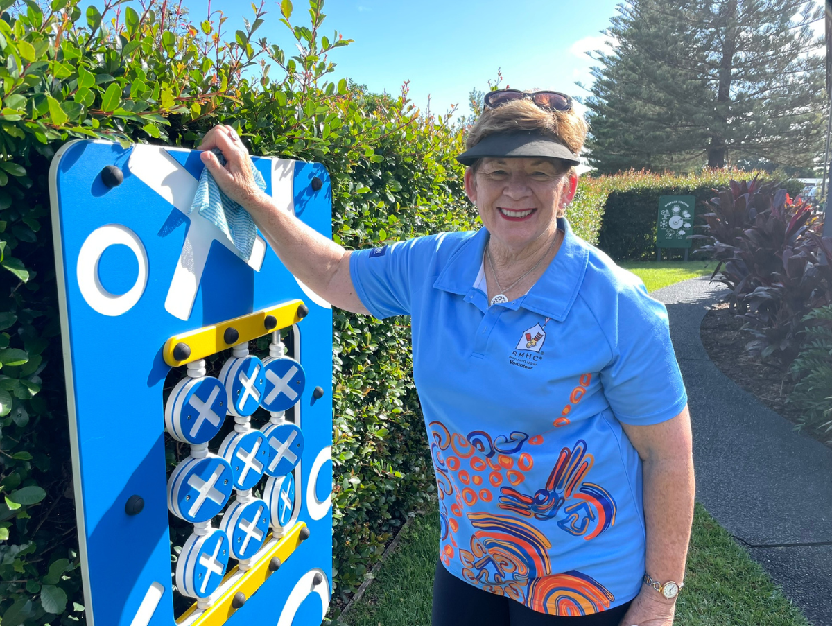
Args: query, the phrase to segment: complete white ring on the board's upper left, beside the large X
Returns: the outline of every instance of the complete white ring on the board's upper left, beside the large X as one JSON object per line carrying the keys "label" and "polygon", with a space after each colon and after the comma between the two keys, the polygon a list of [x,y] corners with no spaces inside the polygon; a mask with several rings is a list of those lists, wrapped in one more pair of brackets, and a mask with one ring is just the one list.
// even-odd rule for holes
{"label": "complete white ring on the board's upper left, beside the large X", "polygon": [[[127,246],[139,262],[139,276],[136,283],[121,296],[115,296],[104,289],[98,278],[98,261],[110,246]],[[121,224],[107,224],[92,231],[78,253],[78,287],[89,306],[102,315],[116,317],[130,311],[147,285],[147,252],[136,233]]]}

